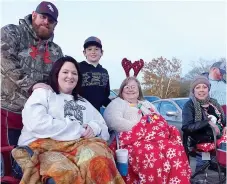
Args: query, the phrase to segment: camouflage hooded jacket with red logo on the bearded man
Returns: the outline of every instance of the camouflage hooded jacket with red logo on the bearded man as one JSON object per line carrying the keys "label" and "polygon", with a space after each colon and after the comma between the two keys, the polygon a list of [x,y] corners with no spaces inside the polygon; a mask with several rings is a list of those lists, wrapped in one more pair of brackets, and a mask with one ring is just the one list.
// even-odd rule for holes
{"label": "camouflage hooded jacket with red logo on the bearded man", "polygon": [[1,28],[1,108],[21,113],[28,89],[47,80],[53,62],[63,56],[52,40],[36,36],[31,15]]}

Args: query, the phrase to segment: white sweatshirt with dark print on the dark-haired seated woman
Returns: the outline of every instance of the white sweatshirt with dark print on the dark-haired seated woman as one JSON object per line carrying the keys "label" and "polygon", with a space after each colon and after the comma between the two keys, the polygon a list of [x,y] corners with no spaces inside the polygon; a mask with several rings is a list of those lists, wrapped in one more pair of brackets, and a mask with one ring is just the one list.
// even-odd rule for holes
{"label": "white sweatshirt with dark print on the dark-haired seated woman", "polygon": [[56,94],[38,88],[33,91],[22,111],[23,129],[18,145],[28,145],[38,138],[59,141],[79,139],[89,125],[94,134],[109,139],[108,127],[101,114],[84,98]]}

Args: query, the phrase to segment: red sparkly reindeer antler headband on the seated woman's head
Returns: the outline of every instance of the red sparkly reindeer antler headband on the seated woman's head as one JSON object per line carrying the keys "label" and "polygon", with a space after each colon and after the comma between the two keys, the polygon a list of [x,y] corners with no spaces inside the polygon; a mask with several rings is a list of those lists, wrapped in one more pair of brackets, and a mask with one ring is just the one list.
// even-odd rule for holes
{"label": "red sparkly reindeer antler headband on the seated woman's head", "polygon": [[125,74],[127,77],[129,77],[129,72],[131,69],[134,70],[134,76],[136,77],[138,75],[138,73],[140,72],[140,70],[143,68],[144,61],[142,59],[140,59],[140,60],[132,63],[127,58],[124,58],[124,59],[122,59],[121,65],[124,68],[124,71],[125,71]]}

